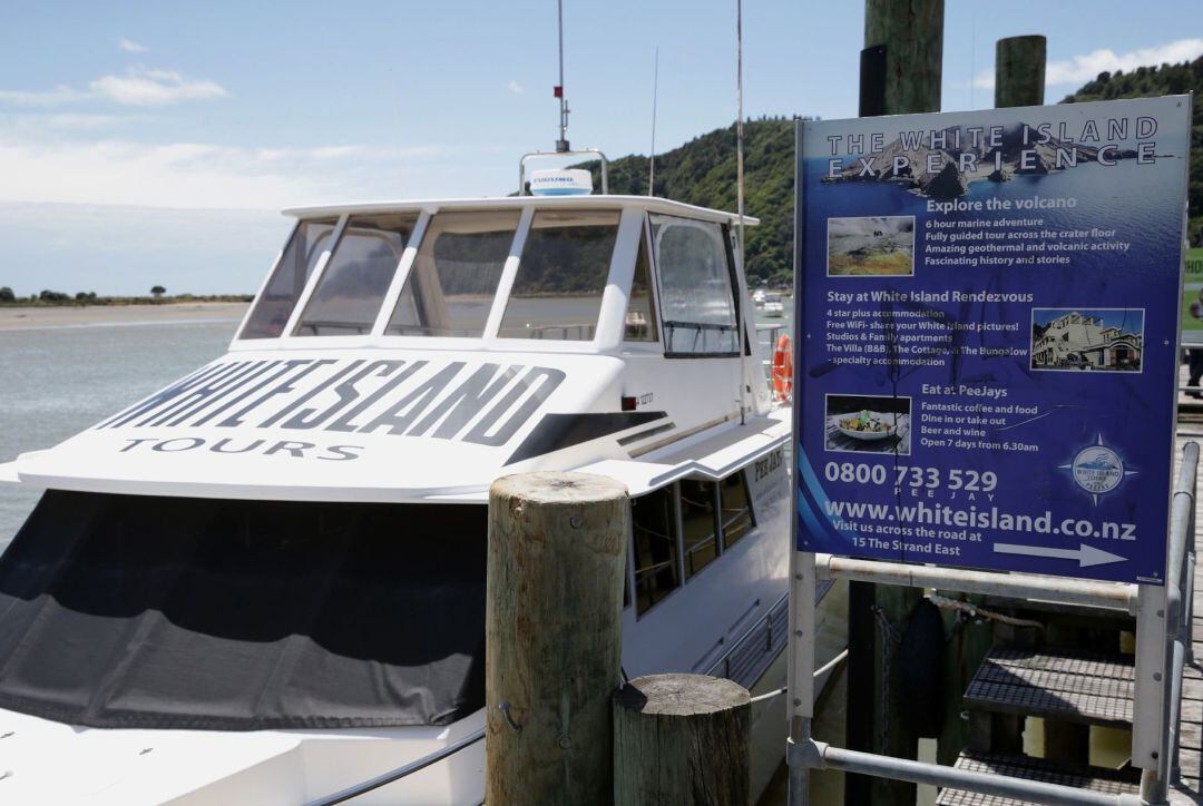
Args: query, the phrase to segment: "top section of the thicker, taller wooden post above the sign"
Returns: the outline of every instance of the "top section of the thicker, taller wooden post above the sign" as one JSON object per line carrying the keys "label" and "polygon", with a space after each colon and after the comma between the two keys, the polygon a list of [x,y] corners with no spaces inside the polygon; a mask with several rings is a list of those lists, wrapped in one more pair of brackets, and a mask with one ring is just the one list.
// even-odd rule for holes
{"label": "top section of the thicker, taller wooden post above the sign", "polygon": [[885,114],[940,112],[944,0],[865,0],[865,47],[885,46]]}

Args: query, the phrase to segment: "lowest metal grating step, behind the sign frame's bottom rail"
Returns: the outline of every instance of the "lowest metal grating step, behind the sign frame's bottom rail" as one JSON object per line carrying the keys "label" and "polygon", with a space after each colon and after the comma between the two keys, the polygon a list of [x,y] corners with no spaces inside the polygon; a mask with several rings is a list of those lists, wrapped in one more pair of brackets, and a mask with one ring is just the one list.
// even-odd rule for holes
{"label": "lowest metal grating step, behind the sign frame's bottom rail", "polygon": [[[1089,789],[1110,795],[1134,794],[1140,789],[1138,770],[1101,770],[1080,764],[1066,764],[1065,761],[1045,761],[1026,755],[965,752],[956,759],[956,769],[1060,783],[1075,789]],[[936,806],[1025,806],[1025,804],[1011,798],[942,789],[936,799]]]}

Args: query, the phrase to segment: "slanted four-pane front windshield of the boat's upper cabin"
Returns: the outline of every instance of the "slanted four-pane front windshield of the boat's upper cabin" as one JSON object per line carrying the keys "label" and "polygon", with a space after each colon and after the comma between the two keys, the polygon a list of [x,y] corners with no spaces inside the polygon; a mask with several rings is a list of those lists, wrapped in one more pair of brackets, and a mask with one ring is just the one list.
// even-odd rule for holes
{"label": "slanted four-pane front windshield of the boat's upper cabin", "polygon": [[[538,209],[525,231],[518,209],[450,209],[431,215],[425,227],[416,212],[351,214],[342,230],[338,219],[302,221],[239,338],[375,333],[588,342],[620,218],[616,209]],[[517,244],[521,254],[514,253]],[[508,267],[512,281],[504,280]],[[486,332],[494,309],[503,313]],[[653,325],[642,327],[654,334]]]}

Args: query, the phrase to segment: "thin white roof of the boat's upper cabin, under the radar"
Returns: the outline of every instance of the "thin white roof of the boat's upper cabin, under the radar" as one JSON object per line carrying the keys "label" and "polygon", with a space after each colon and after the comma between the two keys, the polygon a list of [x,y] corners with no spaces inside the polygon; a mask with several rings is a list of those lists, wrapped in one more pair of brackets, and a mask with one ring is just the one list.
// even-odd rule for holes
{"label": "thin white roof of the boat's upper cabin, under the radar", "polygon": [[[358,202],[344,205],[325,205],[316,207],[292,207],[284,211],[294,218],[316,218],[322,215],[343,215],[344,213],[367,214],[396,213],[404,211],[435,213],[439,209],[504,209],[506,207],[527,207],[538,205],[543,208],[562,207],[565,209],[597,209],[598,207],[640,207],[651,213],[685,215],[706,221],[739,224],[737,213],[727,213],[709,207],[698,207],[683,202],[658,198],[656,196],[499,196],[481,198],[409,198],[397,201]],[[743,217],[743,224],[755,226],[760,219]]]}

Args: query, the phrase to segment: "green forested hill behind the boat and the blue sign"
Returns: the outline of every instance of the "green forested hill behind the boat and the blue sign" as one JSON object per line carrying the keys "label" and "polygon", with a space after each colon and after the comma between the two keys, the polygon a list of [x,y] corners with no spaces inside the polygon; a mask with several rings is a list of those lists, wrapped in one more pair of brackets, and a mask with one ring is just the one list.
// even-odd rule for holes
{"label": "green forested hill behind the boat and the blue sign", "polygon": [[[1191,233],[1203,227],[1203,58],[1180,65],[1100,73],[1062,102],[1172,95],[1195,90],[1191,143]],[[790,118],[749,120],[743,128],[747,171],[747,214],[760,226],[747,231],[748,277],[787,284],[793,273],[794,122]],[[600,186],[593,164],[594,185]],[[610,192],[647,192],[647,158],[623,156],[610,164]],[[656,158],[656,195],[676,201],[735,211],[735,124],[716,129]]]}

